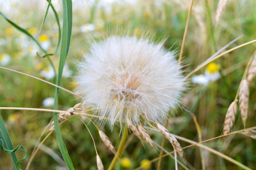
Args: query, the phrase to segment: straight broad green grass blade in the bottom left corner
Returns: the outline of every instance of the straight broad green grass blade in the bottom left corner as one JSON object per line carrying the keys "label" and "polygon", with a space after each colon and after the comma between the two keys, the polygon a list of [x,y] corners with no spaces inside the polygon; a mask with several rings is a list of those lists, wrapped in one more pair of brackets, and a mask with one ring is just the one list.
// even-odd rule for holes
{"label": "straight broad green grass blade in the bottom left corner", "polygon": [[[5,147],[7,148],[7,150],[14,149],[12,146],[10,135],[5,127],[5,122],[3,122],[1,114],[0,114],[0,137],[3,139],[3,143],[5,143]],[[14,169],[15,170],[20,169],[20,165],[16,164],[18,160],[16,158],[15,152],[11,152],[10,154],[11,154],[12,164],[14,165]]]}

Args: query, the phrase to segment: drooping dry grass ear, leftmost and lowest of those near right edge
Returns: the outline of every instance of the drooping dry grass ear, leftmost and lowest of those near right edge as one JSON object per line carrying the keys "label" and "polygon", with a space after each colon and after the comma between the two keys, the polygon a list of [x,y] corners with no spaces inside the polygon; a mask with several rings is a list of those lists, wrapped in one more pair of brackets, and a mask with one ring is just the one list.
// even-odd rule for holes
{"label": "drooping dry grass ear, leftmost and lowest of those near right edge", "polygon": [[225,117],[224,126],[223,126],[224,135],[230,133],[234,125],[234,120],[236,119],[236,115],[237,115],[237,103],[236,101],[233,101],[229,105],[228,112],[226,112],[226,117]]}

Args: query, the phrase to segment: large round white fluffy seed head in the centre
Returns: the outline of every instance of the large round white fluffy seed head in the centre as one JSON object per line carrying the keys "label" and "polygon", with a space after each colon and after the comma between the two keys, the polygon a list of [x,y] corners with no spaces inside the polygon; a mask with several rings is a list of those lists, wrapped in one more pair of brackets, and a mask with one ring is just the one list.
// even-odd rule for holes
{"label": "large round white fluffy seed head in the centre", "polygon": [[94,42],[78,63],[78,93],[94,103],[102,117],[116,121],[140,117],[161,121],[177,105],[184,78],[173,52],[149,39],[110,36]]}

